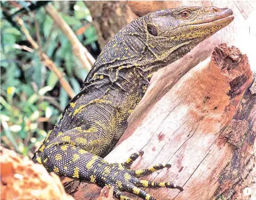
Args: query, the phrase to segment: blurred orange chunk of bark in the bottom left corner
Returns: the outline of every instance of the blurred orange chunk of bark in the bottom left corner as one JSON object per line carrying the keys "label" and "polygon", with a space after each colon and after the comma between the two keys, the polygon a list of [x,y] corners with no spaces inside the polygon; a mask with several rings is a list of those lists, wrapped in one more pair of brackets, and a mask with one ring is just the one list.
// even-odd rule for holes
{"label": "blurred orange chunk of bark in the bottom left corner", "polygon": [[0,147],[1,199],[66,199],[60,178],[40,164]]}

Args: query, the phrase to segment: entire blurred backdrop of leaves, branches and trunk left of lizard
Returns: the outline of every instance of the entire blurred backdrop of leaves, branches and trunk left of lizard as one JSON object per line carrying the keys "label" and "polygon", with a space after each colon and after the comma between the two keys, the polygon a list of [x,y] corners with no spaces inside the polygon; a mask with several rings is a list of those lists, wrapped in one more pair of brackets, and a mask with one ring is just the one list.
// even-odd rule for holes
{"label": "entire blurred backdrop of leaves, branches and trunk left of lizard", "polygon": [[32,157],[104,45],[140,14],[125,1],[0,1],[0,6],[1,146]]}

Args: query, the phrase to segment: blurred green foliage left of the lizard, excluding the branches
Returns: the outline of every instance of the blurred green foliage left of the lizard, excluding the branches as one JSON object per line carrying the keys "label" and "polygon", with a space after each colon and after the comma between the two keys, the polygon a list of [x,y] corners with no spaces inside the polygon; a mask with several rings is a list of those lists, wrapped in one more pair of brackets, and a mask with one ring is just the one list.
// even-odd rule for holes
{"label": "blurred green foliage left of the lizard, excluding the branches", "polygon": [[[28,9],[28,2],[18,2]],[[61,11],[60,15],[74,32],[90,23],[90,12],[82,1],[52,4]],[[40,61],[37,52],[24,50],[24,46],[31,48],[26,36],[5,19],[3,11],[11,15],[19,8],[7,1],[1,5],[1,144],[32,156],[35,146],[39,146],[47,131],[56,124],[69,96],[57,76]],[[44,7],[33,12],[35,18],[29,10],[17,15],[23,19],[33,39],[41,44],[43,52],[65,73],[74,92],[79,92],[87,71],[73,56],[69,40]],[[36,36],[35,23],[39,25],[40,39]],[[94,27],[90,25],[78,39],[95,48]]]}

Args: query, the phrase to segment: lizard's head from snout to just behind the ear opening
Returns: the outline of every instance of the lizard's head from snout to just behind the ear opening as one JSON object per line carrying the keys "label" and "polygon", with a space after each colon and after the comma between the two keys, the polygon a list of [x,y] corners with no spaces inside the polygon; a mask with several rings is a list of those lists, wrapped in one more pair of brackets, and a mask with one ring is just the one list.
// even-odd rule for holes
{"label": "lizard's head from snout to just behind the ear opening", "polygon": [[144,70],[153,72],[181,58],[199,42],[232,22],[232,14],[228,8],[179,7],[142,16],[143,54],[144,59],[151,62]]}

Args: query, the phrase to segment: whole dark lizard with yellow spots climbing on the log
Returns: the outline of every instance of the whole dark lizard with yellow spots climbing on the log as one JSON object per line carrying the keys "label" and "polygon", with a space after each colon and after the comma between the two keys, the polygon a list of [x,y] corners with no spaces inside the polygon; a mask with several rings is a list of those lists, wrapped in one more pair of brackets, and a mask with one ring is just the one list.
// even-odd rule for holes
{"label": "whole dark lizard with yellow spots climbing on the log", "polygon": [[100,53],[81,91],[66,106],[33,160],[48,171],[156,200],[145,188],[178,188],[171,182],[139,180],[170,164],[131,170],[142,152],[125,163],[104,159],[127,127],[127,119],[144,96],[150,76],[181,58],[233,20],[232,11],[216,7],[180,7],[151,12],[121,29]]}

